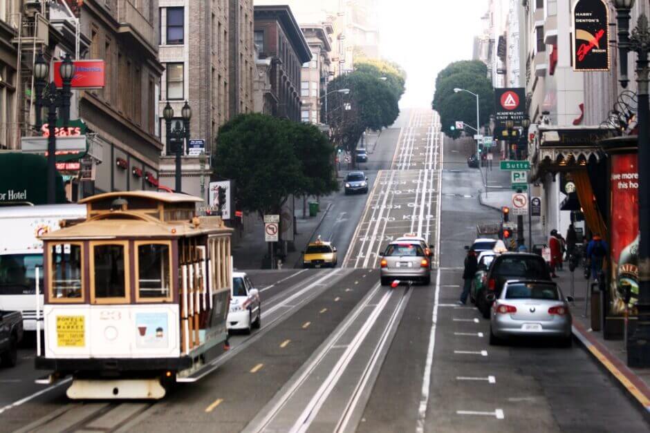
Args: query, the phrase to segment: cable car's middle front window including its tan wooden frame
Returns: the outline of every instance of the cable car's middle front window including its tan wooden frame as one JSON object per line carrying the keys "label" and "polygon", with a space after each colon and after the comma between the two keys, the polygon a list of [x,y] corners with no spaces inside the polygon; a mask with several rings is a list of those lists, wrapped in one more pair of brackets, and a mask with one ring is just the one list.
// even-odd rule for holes
{"label": "cable car's middle front window including its tan wooden frame", "polygon": [[91,253],[91,301],[129,302],[127,242],[95,243]]}

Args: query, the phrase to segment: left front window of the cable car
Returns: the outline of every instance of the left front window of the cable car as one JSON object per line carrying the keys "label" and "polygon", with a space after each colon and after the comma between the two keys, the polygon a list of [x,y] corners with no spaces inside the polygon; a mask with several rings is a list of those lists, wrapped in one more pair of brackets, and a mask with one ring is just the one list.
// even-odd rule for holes
{"label": "left front window of the cable car", "polygon": [[83,302],[81,244],[50,247],[50,302]]}

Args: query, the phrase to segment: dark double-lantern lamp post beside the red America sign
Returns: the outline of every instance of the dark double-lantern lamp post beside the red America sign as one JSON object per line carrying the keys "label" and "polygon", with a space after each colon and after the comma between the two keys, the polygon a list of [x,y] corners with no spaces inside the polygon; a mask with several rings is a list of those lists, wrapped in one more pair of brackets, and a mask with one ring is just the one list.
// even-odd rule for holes
{"label": "dark double-lantern lamp post beside the red America sign", "polygon": [[[63,81],[63,88],[57,89],[54,81],[47,84],[49,77],[49,66],[42,54],[37,56],[34,64],[34,79],[36,90],[36,129],[41,128],[41,108],[48,108],[48,163],[47,163],[47,196],[48,204],[56,203],[56,180],[57,180],[57,114],[63,120],[63,126],[67,127],[70,121],[70,98],[71,83],[75,76],[75,64],[69,54],[59,66],[59,74]],[[58,110],[58,112],[57,112]]]}

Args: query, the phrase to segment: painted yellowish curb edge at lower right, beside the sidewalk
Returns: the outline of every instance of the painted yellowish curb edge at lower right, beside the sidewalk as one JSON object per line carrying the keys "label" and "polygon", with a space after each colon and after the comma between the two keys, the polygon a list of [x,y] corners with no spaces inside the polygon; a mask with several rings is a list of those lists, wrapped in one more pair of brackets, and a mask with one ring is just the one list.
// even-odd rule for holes
{"label": "painted yellowish curb edge at lower right, beside the sidewalk", "polygon": [[644,418],[650,420],[650,387],[644,383],[629,367],[609,352],[602,343],[591,336],[580,323],[573,323],[573,335],[579,343],[600,363],[600,367],[615,379],[629,398],[642,410]]}

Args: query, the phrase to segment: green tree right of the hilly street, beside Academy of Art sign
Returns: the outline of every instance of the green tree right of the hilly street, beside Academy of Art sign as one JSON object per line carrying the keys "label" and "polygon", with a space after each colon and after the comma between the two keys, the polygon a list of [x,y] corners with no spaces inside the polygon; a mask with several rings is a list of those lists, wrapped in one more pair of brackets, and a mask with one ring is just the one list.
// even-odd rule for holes
{"label": "green tree right of the hilly street, beside Academy of Art sign", "polygon": [[[456,121],[477,127],[476,98],[467,92],[455,93],[454,88],[463,88],[479,95],[479,126],[487,124],[494,113],[494,88],[487,77],[487,67],[481,61],[456,61],[440,71],[431,106],[440,115],[445,134],[457,138],[462,131],[451,129]],[[470,128],[465,132],[474,133]]]}

